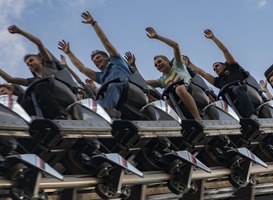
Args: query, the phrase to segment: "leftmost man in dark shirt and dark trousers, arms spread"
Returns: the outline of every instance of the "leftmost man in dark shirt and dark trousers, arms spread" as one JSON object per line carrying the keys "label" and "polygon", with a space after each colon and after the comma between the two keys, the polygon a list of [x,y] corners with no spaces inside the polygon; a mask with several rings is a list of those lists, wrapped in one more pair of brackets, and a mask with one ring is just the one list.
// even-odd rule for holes
{"label": "leftmost man in dark shirt and dark trousers, arms spread", "polygon": [[[34,92],[37,96],[42,114],[48,119],[66,119],[69,113],[63,108],[63,106],[68,106],[75,102],[76,95],[73,94],[68,86],[54,78],[57,68],[51,53],[45,48],[39,38],[20,29],[19,27],[11,25],[8,27],[8,31],[11,34],[20,34],[33,42],[39,49],[39,55],[27,54],[24,57],[24,61],[33,74],[33,77],[12,77],[3,70],[0,70],[0,76],[9,83],[22,86],[29,86],[31,83],[48,78],[49,81],[40,82],[34,87]],[[56,85],[58,85],[58,87]],[[56,93],[59,95],[56,95]],[[29,115],[37,114],[35,113],[32,102],[25,100],[21,105]]]}

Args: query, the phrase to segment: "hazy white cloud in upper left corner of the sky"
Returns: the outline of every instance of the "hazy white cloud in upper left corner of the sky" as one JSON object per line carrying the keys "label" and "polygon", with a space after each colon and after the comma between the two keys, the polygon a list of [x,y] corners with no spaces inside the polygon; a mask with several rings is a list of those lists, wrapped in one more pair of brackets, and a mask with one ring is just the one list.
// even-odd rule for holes
{"label": "hazy white cloud in upper left corner of the sky", "polygon": [[[19,21],[33,4],[41,4],[44,7],[67,8],[70,11],[79,12],[91,6],[103,5],[107,0],[0,0],[0,68],[12,76],[27,76],[25,69],[20,70],[24,63],[23,56],[28,53],[28,42],[24,37],[11,35],[7,27]],[[72,13],[71,13],[72,14]],[[22,72],[22,70],[25,70]],[[1,77],[0,77],[1,79]],[[1,82],[1,81],[0,81]]]}

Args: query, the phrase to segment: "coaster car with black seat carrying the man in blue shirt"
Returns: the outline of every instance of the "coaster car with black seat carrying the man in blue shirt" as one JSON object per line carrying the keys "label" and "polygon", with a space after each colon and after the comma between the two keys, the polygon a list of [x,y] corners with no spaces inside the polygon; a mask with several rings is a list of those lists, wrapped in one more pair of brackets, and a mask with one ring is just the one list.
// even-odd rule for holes
{"label": "coaster car with black seat carrying the man in blue shirt", "polygon": [[[139,74],[134,73],[129,77],[117,107],[122,113],[121,119],[113,120],[112,124],[115,145],[111,151],[118,152],[142,171],[164,170],[176,174],[176,178],[168,183],[169,189],[177,194],[187,192],[192,188],[193,164],[185,160],[175,146],[170,146],[168,140],[168,137],[181,137],[181,120],[162,100],[148,103],[146,94],[149,92],[150,89]],[[106,145],[107,142],[109,140],[102,143],[111,146],[109,143]],[[191,155],[187,151],[183,153]],[[194,158],[193,155],[190,157]],[[194,160],[197,166],[203,166],[209,171],[196,158]],[[177,178],[178,174],[181,174],[180,178]]]}

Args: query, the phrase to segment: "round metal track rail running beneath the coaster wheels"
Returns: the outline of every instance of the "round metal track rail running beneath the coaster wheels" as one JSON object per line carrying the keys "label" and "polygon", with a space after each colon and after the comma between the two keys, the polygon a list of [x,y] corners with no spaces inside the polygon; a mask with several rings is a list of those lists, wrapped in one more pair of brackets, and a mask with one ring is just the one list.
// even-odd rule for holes
{"label": "round metal track rail running beneath the coaster wheels", "polygon": [[[215,167],[212,168],[211,173],[196,169],[192,174],[192,180],[208,180],[219,177],[225,177],[232,173],[232,170]],[[271,174],[273,173],[273,163],[268,164],[268,168],[260,165],[253,165],[250,174]],[[144,177],[126,174],[122,180],[123,185],[147,185],[152,183],[162,183],[170,180],[172,175],[162,171],[144,172]],[[64,176],[63,181],[59,181],[52,177],[43,177],[39,183],[39,187],[43,189],[67,189],[67,188],[86,188],[102,183],[103,179],[90,177],[88,175],[67,175]],[[5,178],[0,178],[0,188],[8,189],[16,186],[16,181],[11,181]]]}

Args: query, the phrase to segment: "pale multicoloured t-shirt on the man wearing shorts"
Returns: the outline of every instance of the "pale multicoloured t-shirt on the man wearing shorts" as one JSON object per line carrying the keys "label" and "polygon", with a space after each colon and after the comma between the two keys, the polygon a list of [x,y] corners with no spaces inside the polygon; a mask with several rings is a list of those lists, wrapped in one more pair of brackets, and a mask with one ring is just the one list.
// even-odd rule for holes
{"label": "pale multicoloured t-shirt on the man wearing shorts", "polygon": [[191,75],[183,61],[178,62],[176,59],[174,59],[171,70],[157,79],[157,82],[159,83],[159,87],[165,88],[166,86],[179,80],[184,80],[186,84],[189,84],[191,81]]}

